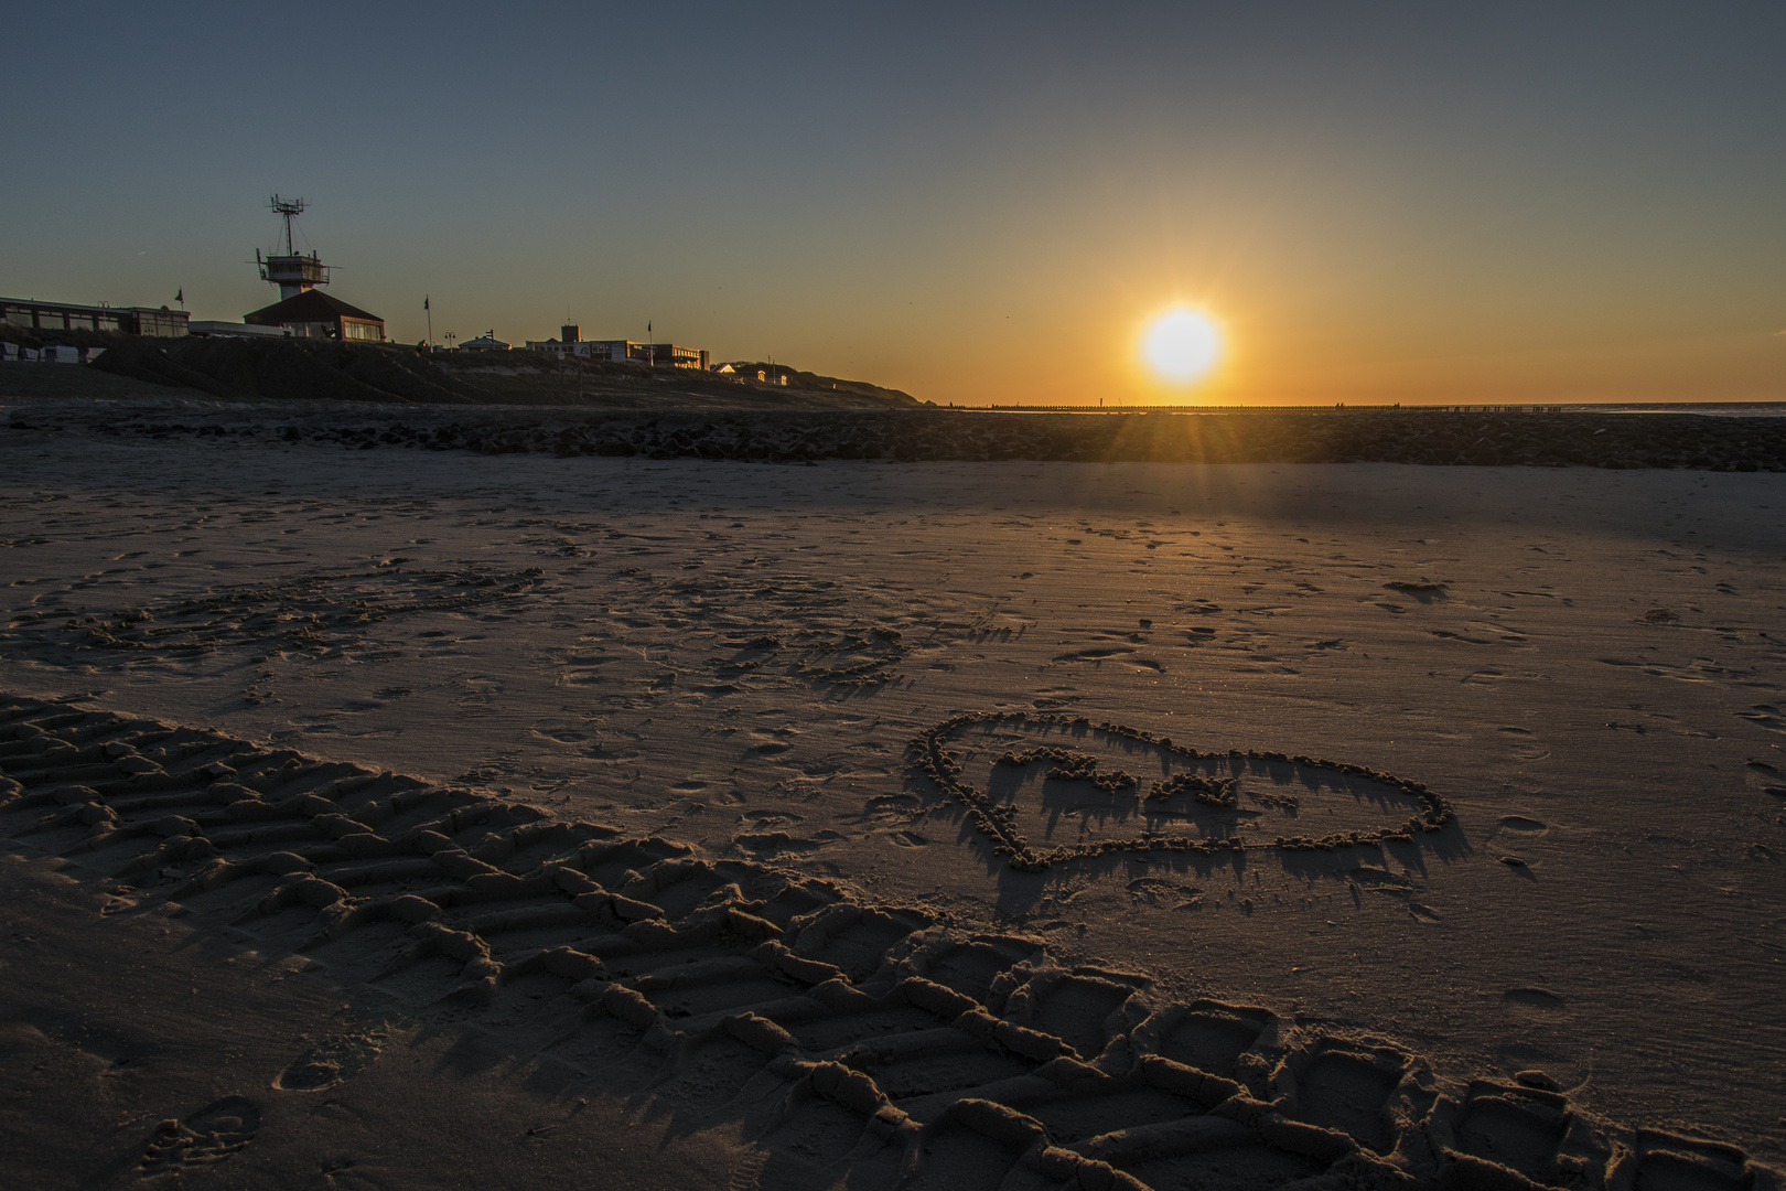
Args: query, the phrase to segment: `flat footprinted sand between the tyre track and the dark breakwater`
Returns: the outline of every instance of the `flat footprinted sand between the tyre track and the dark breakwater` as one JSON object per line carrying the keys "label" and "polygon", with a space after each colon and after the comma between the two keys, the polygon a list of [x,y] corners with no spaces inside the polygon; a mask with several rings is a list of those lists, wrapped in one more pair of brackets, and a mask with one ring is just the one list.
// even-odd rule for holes
{"label": "flat footprinted sand between the tyre track and the dark breakwater", "polygon": [[[686,841],[1145,971],[1175,1004],[1372,1039],[1441,1079],[1538,1070],[1586,1112],[1777,1164],[1782,502],[1772,473],[754,466],[11,432],[0,687]],[[1250,846],[1018,871],[913,768],[911,741],[959,712],[1006,714],[943,743],[1039,852]],[[1177,748],[1050,720],[1079,716]],[[995,764],[1032,748],[1118,784]],[[1238,793],[1138,796],[1175,773]],[[1407,839],[1273,843],[1395,830],[1422,807],[1391,777],[1454,816]],[[71,921],[75,893],[11,864],[9,914]],[[173,943],[132,946],[166,968]],[[205,946],[179,954],[225,979]],[[293,993],[295,1025],[327,1016],[316,987]],[[20,1041],[30,1014],[7,1020],[11,1046],[59,1062],[54,1030]],[[432,1061],[416,1027],[384,1029],[382,1054]],[[245,1052],[255,1104],[261,1068],[295,1059],[275,1050]],[[50,1105],[91,1073],[63,1070],[21,1112],[66,1137],[43,1121],[66,1121]],[[141,1145],[150,1116],[225,1095],[171,1059],[163,1082],[184,1100],[136,1091],[107,1129]],[[473,1084],[464,1102],[495,1105],[479,1120],[525,1116],[523,1077]],[[288,1137],[304,1161],[334,1145]],[[54,1166],[30,1146],[7,1161]],[[727,1161],[745,1162],[688,1157]],[[364,1186],[429,1186],[398,1175]]]}

